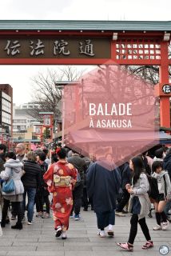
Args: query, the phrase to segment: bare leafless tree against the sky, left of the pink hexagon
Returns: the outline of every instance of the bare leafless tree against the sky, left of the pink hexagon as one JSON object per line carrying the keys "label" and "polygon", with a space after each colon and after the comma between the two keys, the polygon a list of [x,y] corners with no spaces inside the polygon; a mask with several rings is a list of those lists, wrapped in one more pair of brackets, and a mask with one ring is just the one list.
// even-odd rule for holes
{"label": "bare leafless tree against the sky, left of the pink hexagon", "polygon": [[32,102],[39,104],[39,108],[27,110],[28,114],[36,120],[42,121],[42,115],[39,112],[54,112],[54,126],[61,119],[60,102],[62,99],[62,90],[55,86],[58,81],[77,81],[83,71],[79,71],[73,66],[58,68],[58,70],[46,71],[46,74],[38,73],[31,78],[32,85]]}

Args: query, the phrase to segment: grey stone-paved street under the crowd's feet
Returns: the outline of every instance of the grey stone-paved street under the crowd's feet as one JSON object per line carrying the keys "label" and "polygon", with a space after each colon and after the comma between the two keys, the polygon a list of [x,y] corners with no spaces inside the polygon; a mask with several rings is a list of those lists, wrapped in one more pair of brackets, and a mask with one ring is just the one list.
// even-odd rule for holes
{"label": "grey stone-paved street under the crowd's feet", "polygon": [[[153,214],[154,215],[154,214]],[[153,249],[141,250],[145,239],[138,229],[134,251],[121,251],[116,242],[126,242],[129,234],[128,217],[116,218],[115,237],[97,237],[95,214],[92,211],[82,212],[82,220],[70,219],[70,231],[68,239],[54,237],[53,219],[34,218],[34,225],[24,224],[23,230],[11,230],[10,225],[3,229],[0,237],[0,255],[7,256],[106,256],[116,255],[161,255],[159,247],[169,246],[171,250],[171,226],[169,230],[153,231],[154,218],[147,218],[150,233],[153,238]],[[15,223],[15,221],[11,221]],[[171,252],[170,252],[171,254]]]}

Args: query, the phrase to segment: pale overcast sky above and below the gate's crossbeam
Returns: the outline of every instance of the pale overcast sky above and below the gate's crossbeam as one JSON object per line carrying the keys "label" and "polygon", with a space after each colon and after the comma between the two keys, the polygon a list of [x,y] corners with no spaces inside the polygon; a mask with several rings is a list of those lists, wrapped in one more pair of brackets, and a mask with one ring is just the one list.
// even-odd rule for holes
{"label": "pale overcast sky above and below the gate's crossbeam", "polygon": [[[169,21],[170,10],[170,0],[4,0],[0,19]],[[0,66],[0,83],[9,83],[14,88],[15,103],[28,102],[30,78],[46,69],[46,66]]]}

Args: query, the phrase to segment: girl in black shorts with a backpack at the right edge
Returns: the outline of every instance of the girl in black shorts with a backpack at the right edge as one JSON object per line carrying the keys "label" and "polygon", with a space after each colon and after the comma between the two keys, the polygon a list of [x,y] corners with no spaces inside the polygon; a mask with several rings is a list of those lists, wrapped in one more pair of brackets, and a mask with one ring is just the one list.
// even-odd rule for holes
{"label": "girl in black shorts with a backpack at the right edge", "polygon": [[[171,197],[171,184],[169,174],[166,170],[162,170],[161,161],[155,161],[152,165],[153,174],[152,177],[157,178],[158,185],[158,197],[154,202],[156,210],[157,226],[153,227],[153,230],[166,230],[169,226],[169,221],[164,211],[167,200]],[[163,223],[161,224],[161,218]]]}

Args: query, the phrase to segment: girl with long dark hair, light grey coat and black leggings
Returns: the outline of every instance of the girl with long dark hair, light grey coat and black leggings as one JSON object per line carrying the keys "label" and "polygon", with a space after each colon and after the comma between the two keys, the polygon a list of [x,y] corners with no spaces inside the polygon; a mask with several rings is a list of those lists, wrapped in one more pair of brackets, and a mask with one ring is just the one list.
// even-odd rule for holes
{"label": "girl with long dark hair, light grey coat and black leggings", "polygon": [[149,182],[145,174],[144,164],[141,157],[134,157],[129,162],[129,168],[133,173],[132,186],[128,183],[125,188],[130,194],[129,212],[132,214],[130,219],[130,231],[128,242],[117,242],[124,250],[133,251],[133,243],[137,235],[137,224],[141,226],[141,230],[145,236],[145,245],[141,248],[147,250],[153,247],[153,241],[149,234],[149,228],[145,222],[145,216],[149,214]]}

